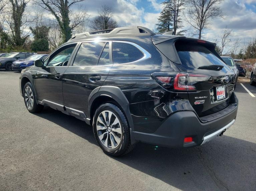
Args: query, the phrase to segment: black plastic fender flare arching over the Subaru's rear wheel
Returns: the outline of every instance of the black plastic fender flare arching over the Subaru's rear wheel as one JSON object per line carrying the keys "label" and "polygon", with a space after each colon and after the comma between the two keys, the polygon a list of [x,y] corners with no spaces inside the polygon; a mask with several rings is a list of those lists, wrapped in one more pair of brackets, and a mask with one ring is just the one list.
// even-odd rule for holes
{"label": "black plastic fender flare arching over the Subaru's rear wheel", "polygon": [[129,126],[130,126],[131,142],[132,142],[132,144],[135,143],[136,141],[133,136],[134,124],[133,124],[133,119],[132,119],[132,115],[130,113],[130,108],[129,108],[130,103],[127,100],[127,98],[125,97],[122,90],[116,86],[101,86],[101,87],[95,88],[88,97],[88,114],[89,114],[89,116],[90,116],[90,111],[91,111],[91,105],[92,105],[93,101],[96,98],[98,98],[99,96],[111,97],[113,100],[115,100],[120,105],[121,109],[123,110],[123,112],[127,118]]}

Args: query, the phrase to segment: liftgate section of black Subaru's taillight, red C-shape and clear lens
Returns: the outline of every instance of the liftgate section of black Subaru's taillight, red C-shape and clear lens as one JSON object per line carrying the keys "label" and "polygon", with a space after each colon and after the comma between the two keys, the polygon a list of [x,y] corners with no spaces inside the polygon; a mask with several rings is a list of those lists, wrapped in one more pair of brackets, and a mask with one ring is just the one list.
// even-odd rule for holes
{"label": "liftgate section of black Subaru's taillight, red C-shape and clear lens", "polygon": [[178,73],[175,76],[173,87],[178,91],[196,91],[194,86],[198,82],[205,82],[211,76],[192,73]]}

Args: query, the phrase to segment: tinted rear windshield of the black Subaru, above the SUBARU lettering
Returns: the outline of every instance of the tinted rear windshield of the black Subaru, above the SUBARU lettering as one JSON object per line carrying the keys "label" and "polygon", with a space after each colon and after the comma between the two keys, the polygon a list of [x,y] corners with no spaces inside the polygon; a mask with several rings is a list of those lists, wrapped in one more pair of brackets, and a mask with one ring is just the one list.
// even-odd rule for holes
{"label": "tinted rear windshield of the black Subaru, above the SUBARU lettering", "polygon": [[182,65],[187,67],[198,68],[207,65],[224,65],[217,56],[202,45],[196,43],[176,43],[175,47]]}

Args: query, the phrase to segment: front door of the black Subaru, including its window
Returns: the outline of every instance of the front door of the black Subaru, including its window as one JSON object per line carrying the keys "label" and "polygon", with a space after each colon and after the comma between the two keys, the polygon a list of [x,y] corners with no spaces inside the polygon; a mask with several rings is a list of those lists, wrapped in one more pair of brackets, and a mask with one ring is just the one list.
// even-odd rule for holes
{"label": "front door of the black Subaru, including its window", "polygon": [[55,109],[63,109],[62,77],[76,45],[66,45],[54,51],[45,60],[45,67],[38,68],[35,74],[38,100]]}

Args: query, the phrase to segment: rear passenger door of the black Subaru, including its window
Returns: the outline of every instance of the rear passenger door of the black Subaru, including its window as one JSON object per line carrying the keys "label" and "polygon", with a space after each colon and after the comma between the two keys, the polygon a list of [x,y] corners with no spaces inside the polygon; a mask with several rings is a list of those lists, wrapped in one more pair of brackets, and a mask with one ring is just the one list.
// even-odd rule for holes
{"label": "rear passenger door of the black Subaru, including its window", "polygon": [[107,41],[80,43],[63,76],[63,97],[67,112],[86,118],[88,97],[100,87],[112,67],[112,43]]}

